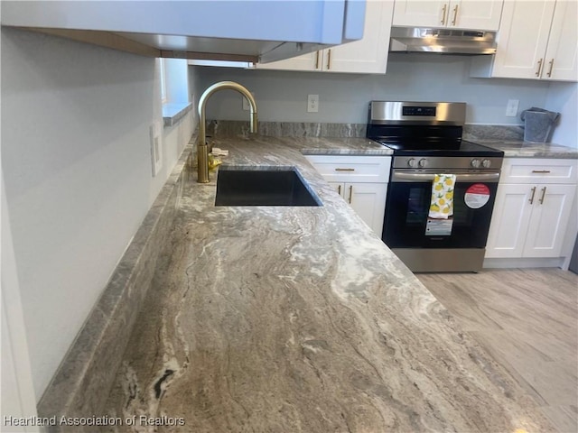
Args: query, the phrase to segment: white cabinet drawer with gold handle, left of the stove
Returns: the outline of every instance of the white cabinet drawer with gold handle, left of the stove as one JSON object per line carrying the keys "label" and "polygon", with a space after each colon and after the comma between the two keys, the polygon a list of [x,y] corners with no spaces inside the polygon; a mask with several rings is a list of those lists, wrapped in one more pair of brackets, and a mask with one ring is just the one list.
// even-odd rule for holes
{"label": "white cabinet drawer with gold handle, left of the stove", "polygon": [[306,155],[315,170],[330,182],[387,182],[390,156]]}

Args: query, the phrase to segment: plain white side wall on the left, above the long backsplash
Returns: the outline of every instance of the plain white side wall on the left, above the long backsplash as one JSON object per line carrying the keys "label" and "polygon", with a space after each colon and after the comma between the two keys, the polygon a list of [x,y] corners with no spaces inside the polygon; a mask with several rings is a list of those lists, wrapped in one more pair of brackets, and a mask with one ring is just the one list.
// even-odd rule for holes
{"label": "plain white side wall on the left, above the long backsplash", "polygon": [[[2,28],[2,169],[36,397],[192,132],[163,132],[158,60]],[[3,231],[5,224],[3,220]]]}

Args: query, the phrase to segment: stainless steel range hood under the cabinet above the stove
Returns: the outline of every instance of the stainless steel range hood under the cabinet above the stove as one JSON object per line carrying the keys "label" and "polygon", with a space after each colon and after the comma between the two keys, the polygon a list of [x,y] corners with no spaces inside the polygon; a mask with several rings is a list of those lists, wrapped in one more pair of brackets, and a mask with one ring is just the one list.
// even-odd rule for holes
{"label": "stainless steel range hood under the cabinet above the stove", "polygon": [[496,32],[392,27],[389,51],[462,55],[495,54]]}

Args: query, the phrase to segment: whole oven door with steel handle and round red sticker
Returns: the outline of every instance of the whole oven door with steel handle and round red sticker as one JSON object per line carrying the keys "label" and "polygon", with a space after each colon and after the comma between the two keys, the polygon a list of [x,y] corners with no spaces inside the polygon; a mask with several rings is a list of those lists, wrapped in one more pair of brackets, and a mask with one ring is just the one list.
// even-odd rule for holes
{"label": "whole oven door with steel handle and round red sticker", "polygon": [[453,216],[428,218],[435,173],[393,170],[387,192],[383,241],[390,248],[484,248],[499,171],[456,171]]}

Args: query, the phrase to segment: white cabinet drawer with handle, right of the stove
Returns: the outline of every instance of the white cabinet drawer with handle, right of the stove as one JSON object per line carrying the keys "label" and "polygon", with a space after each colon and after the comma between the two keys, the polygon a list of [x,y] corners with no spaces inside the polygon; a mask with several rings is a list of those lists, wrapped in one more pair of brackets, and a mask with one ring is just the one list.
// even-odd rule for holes
{"label": "white cabinet drawer with handle, right of the stove", "polygon": [[505,158],[501,183],[576,183],[577,160]]}

